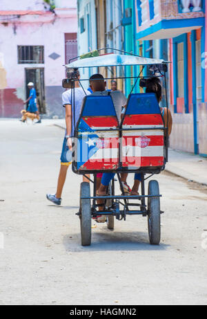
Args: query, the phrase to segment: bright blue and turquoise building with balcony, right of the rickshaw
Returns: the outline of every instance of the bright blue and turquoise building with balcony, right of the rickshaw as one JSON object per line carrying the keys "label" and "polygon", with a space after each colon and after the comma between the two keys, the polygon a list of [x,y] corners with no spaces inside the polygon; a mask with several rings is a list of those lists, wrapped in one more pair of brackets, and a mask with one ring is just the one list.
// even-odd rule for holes
{"label": "bright blue and turquoise building with balcony, right of the rickshaw", "polygon": [[124,6],[128,51],[172,62],[167,79],[173,118],[170,147],[206,156],[206,1],[125,0]]}

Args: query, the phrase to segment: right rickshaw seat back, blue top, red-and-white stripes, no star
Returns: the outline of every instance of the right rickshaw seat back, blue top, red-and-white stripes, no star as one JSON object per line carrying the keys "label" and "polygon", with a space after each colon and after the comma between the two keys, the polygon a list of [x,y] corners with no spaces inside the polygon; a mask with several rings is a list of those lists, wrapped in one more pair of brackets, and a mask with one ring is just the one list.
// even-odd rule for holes
{"label": "right rickshaw seat back, blue top, red-and-white stripes, no star", "polygon": [[122,167],[164,165],[164,122],[155,93],[129,96],[121,128]]}

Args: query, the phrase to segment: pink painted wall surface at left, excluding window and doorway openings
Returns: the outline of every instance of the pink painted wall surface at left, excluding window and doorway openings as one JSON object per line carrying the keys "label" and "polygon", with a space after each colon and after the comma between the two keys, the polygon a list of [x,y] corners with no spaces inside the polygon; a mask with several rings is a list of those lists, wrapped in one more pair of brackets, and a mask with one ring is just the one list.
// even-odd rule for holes
{"label": "pink painted wall surface at left, excluding window and doorway openings", "polygon": [[[3,2],[2,2],[3,1]],[[14,1],[16,2],[16,1]],[[39,3],[39,1],[37,1]],[[61,1],[60,1],[61,2]],[[61,81],[65,77],[65,33],[77,33],[76,1],[71,2],[72,8],[57,8],[57,15],[42,11],[42,15],[23,15],[19,19],[3,20],[3,10],[11,10],[10,1],[0,1],[0,80],[6,71],[6,85],[0,86],[0,116],[17,117],[23,109],[26,99],[26,68],[44,68],[46,92],[57,92],[57,100],[61,108]],[[28,9],[26,4],[32,1],[18,1],[19,10]],[[63,1],[64,3],[64,1]],[[16,8],[16,7],[15,7]],[[39,6],[32,9],[39,10]],[[14,18],[14,16],[9,16]],[[2,22],[5,22],[2,24]],[[44,64],[18,64],[17,46],[44,46]],[[57,60],[49,55],[57,53]],[[3,73],[4,72],[4,73]],[[49,94],[50,95],[50,94]],[[50,96],[48,97],[50,98]],[[47,101],[46,108],[51,111],[51,101]],[[54,107],[53,107],[54,108]]]}

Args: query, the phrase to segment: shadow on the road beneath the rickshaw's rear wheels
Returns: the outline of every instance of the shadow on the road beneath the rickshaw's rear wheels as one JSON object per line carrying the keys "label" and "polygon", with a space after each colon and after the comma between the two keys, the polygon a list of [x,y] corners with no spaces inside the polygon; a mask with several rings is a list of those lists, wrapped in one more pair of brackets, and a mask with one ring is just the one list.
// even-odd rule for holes
{"label": "shadow on the road beneath the rickshaw's rear wheels", "polygon": [[141,232],[112,232],[108,229],[104,233],[92,234],[91,246],[81,246],[79,234],[63,237],[63,244],[68,252],[72,251],[107,251],[107,250],[165,250],[170,245],[161,243],[160,245],[150,245],[148,234]]}

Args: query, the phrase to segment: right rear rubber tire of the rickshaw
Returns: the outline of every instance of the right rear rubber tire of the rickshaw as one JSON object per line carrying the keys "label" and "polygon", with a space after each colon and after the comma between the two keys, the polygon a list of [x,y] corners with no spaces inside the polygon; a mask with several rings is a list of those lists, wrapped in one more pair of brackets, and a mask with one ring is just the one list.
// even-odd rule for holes
{"label": "right rear rubber tire of the rickshaw", "polygon": [[[148,195],[159,195],[157,181],[148,183]],[[148,197],[148,233],[150,244],[159,245],[160,242],[160,200],[159,197]]]}

